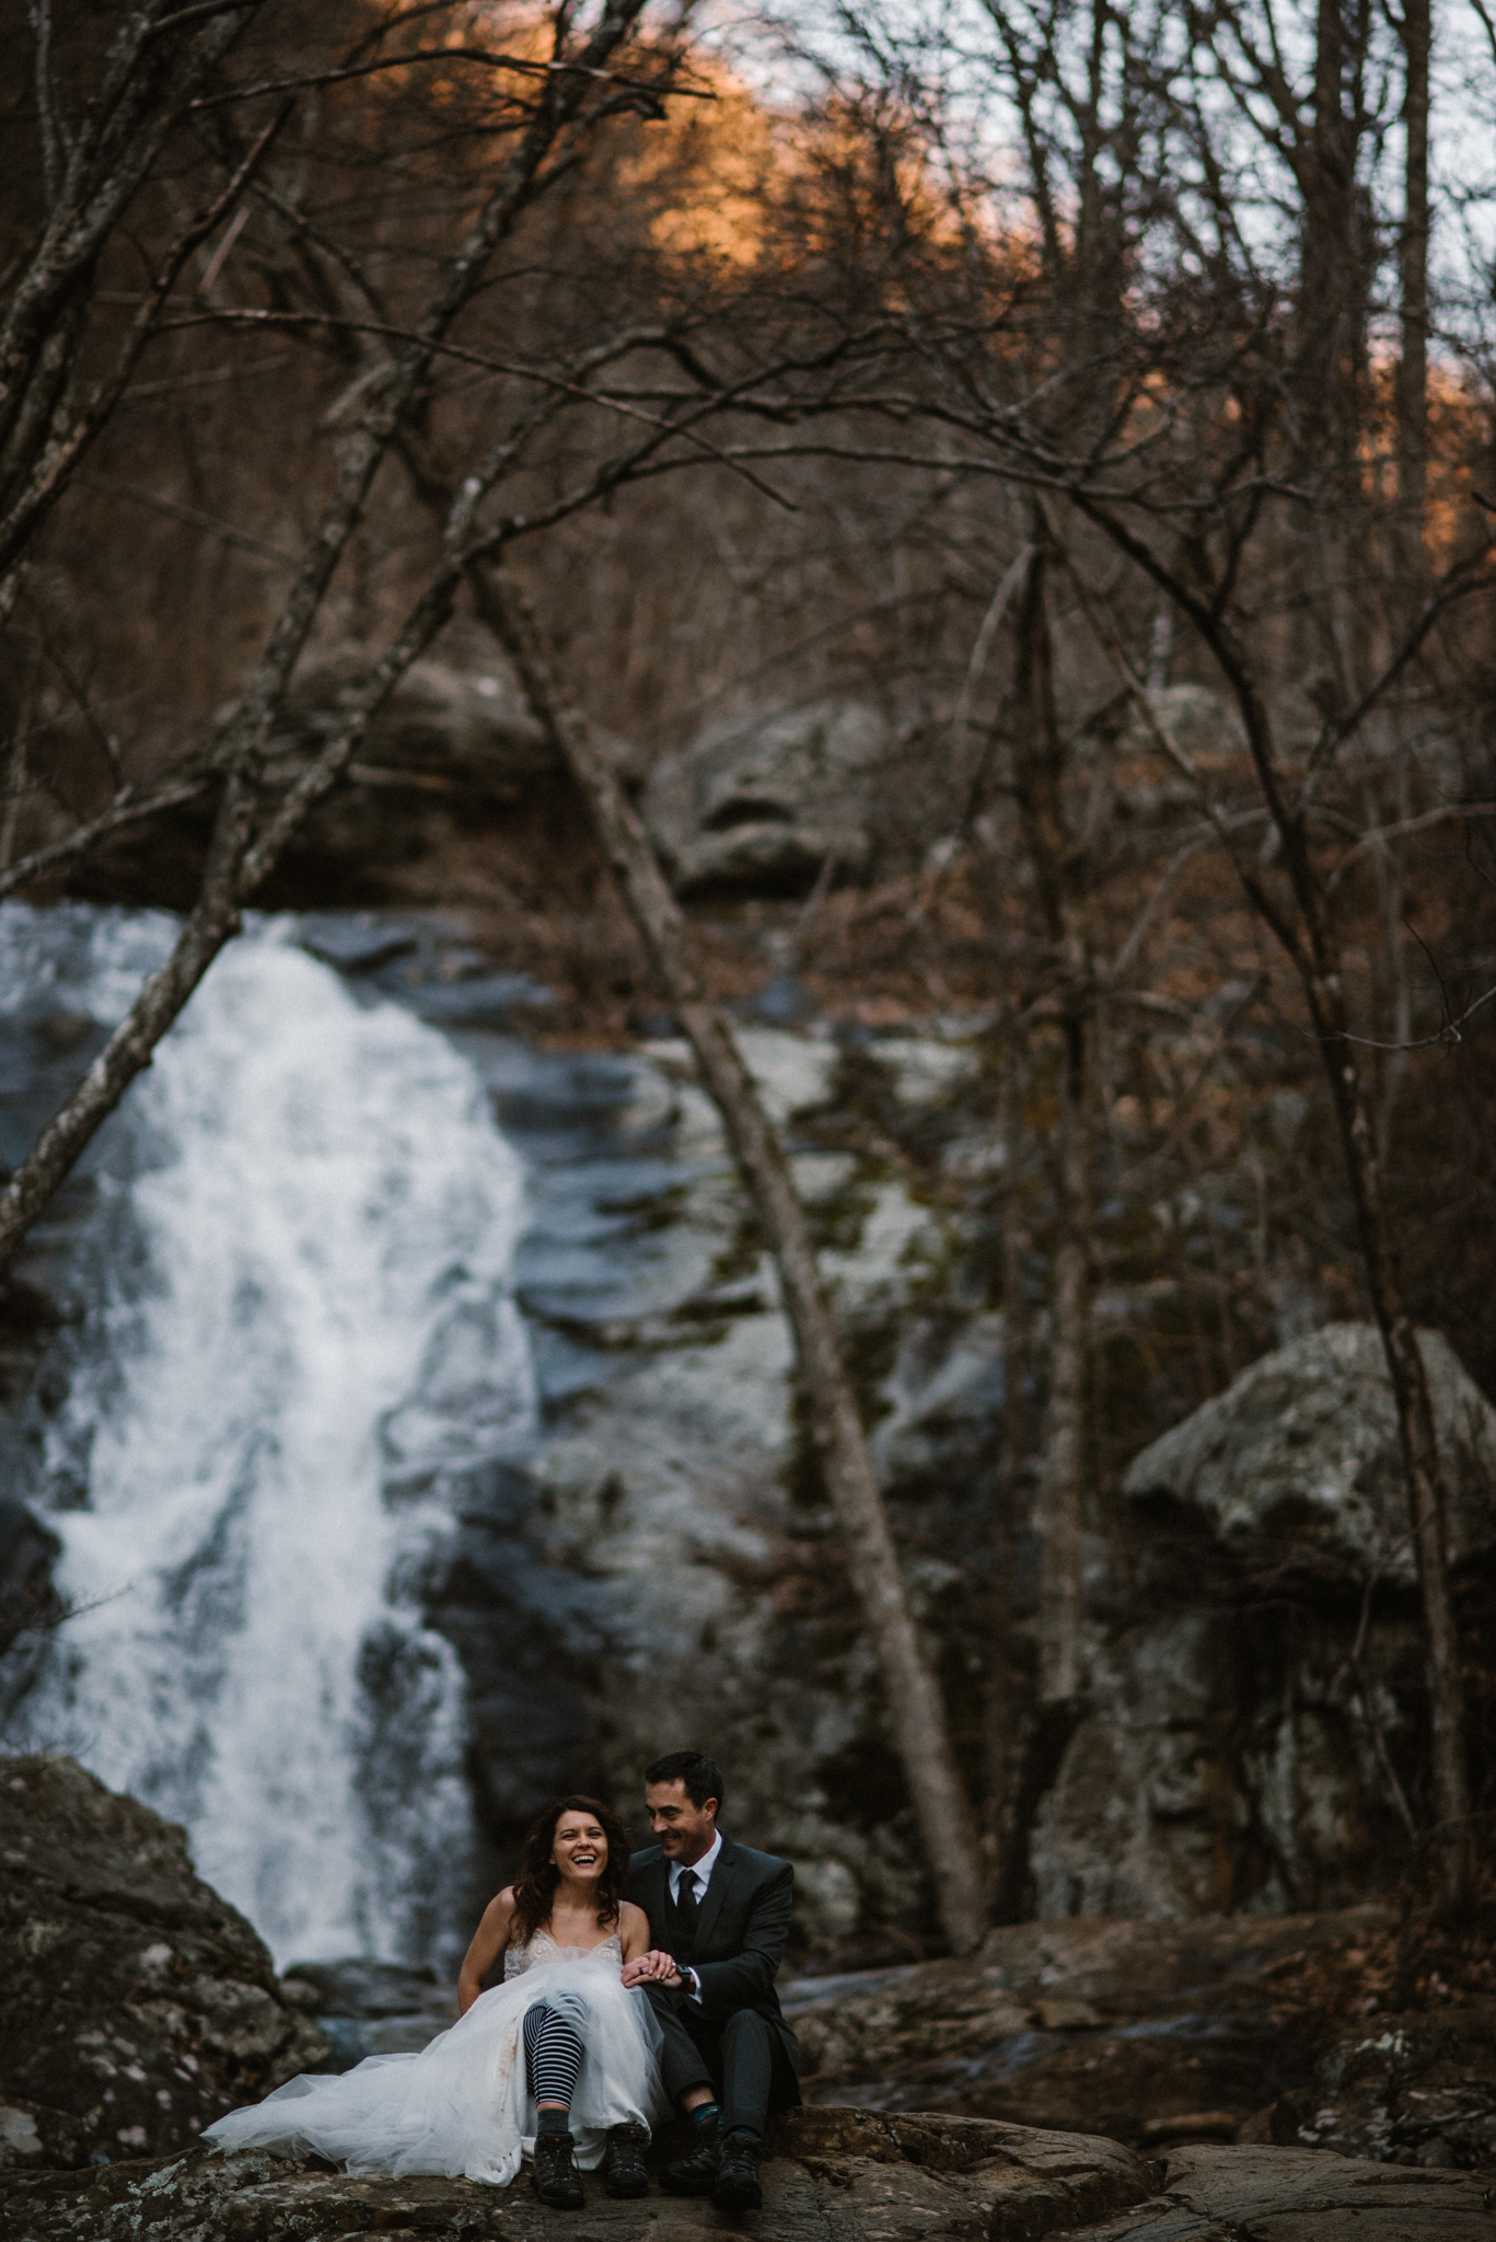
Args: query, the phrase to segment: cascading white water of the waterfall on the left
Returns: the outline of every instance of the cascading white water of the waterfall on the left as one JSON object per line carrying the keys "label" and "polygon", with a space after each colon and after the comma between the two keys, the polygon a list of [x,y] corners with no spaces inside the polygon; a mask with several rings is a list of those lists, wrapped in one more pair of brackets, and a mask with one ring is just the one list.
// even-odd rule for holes
{"label": "cascading white water of the waterfall on the left", "polygon": [[[54,1000],[112,1022],[175,928],[72,924]],[[13,1002],[36,998],[38,926],[0,912]],[[449,1957],[462,1677],[415,1590],[444,1475],[532,1412],[520,1161],[435,1029],[265,921],[130,1092],[99,1177],[45,1435],[58,1500],[85,1504],[52,1520],[79,1610],[9,1749],[74,1751],[186,1823],[280,1964]]]}

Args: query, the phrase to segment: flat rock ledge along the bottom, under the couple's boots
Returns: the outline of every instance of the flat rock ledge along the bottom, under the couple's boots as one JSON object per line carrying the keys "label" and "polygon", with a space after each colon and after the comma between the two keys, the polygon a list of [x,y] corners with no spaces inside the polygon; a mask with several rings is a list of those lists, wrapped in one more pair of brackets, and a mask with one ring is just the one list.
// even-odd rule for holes
{"label": "flat rock ledge along the bottom, under the couple's boots", "polygon": [[1492,2242],[1487,2186],[1462,2172],[1355,2164],[1328,2150],[1186,2148],[1148,2161],[1095,2134],[987,2119],[801,2110],[745,2220],[653,2193],[543,2211],[527,2181],[348,2179],[274,2157],[179,2157],[92,2172],[7,2175],[7,2242],[334,2242],[345,2235],[516,2242]]}

